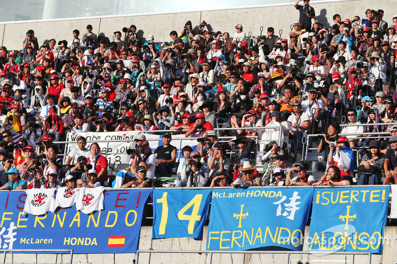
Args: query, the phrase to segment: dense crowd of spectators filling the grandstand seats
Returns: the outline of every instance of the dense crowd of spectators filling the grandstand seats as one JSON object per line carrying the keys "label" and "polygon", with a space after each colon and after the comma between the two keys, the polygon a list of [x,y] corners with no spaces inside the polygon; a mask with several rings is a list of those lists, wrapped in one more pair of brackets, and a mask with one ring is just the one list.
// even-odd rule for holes
{"label": "dense crowd of spectators filling the grandstand seats", "polygon": [[[177,187],[395,183],[397,14],[334,14],[327,28],[309,0],[294,7],[283,38],[187,21],[168,44],[134,25],[113,41],[87,25],[44,45],[28,30],[19,53],[0,47],[0,189],[151,187],[175,171]],[[111,131],[139,131],[113,182],[83,136],[66,164],[58,157],[67,133]],[[154,153],[147,134],[162,135]],[[176,162],[179,134],[198,142]],[[307,134],[320,134],[322,160],[303,160]]]}

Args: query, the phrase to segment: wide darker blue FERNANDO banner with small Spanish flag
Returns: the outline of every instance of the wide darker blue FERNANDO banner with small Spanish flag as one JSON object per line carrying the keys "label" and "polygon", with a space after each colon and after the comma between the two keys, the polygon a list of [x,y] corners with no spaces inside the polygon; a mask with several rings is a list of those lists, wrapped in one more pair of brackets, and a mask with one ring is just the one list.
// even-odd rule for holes
{"label": "wide darker blue FERNANDO banner with small Spanish flag", "polygon": [[[73,249],[76,254],[135,253],[151,189],[106,191],[104,210],[76,207],[23,215],[25,192],[0,192],[2,249]],[[126,235],[128,234],[128,235]]]}

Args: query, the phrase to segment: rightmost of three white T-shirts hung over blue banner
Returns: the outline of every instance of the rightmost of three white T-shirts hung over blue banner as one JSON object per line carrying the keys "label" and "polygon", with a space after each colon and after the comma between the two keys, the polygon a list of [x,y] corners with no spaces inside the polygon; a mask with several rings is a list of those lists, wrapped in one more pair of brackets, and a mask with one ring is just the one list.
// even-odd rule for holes
{"label": "rightmost of three white T-shirts hung over blue banner", "polygon": [[103,210],[103,192],[105,187],[81,188],[76,196],[76,209],[89,214],[93,211]]}

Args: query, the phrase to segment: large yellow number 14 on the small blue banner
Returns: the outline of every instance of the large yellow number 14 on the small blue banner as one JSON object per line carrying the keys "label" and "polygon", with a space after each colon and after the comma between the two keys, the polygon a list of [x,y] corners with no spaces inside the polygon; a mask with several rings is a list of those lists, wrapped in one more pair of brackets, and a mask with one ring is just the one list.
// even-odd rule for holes
{"label": "large yellow number 14 on the small blue banner", "polygon": [[[167,202],[167,194],[164,193],[161,199],[157,199],[157,203],[163,204],[163,210],[161,211],[161,221],[160,221],[160,228],[159,228],[159,235],[165,234],[165,227],[167,225],[168,220],[168,202]],[[178,212],[178,219],[179,220],[187,220],[189,221],[188,224],[188,233],[193,234],[195,229],[196,221],[201,220],[201,215],[199,214],[199,208],[201,204],[202,194],[197,194],[186,206],[184,206],[181,211]],[[189,208],[193,206],[192,214],[185,214]]]}

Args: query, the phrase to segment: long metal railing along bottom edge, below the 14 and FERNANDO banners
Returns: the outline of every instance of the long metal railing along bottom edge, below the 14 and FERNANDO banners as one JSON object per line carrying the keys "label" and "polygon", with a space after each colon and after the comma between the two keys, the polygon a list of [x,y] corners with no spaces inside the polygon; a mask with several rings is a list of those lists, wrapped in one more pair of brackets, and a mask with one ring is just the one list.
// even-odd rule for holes
{"label": "long metal railing along bottom edge, below the 14 and FERNANDO banners", "polygon": [[[213,254],[286,254],[286,264],[290,264],[290,255],[318,255],[325,256],[330,255],[326,252],[314,252],[314,251],[219,251],[219,250],[140,250],[136,251],[135,264],[139,264],[139,254],[141,253],[149,253],[149,262],[150,263],[150,255],[152,253],[168,253],[168,254],[209,254],[209,263],[212,264],[212,255]],[[372,254],[371,252],[334,252],[333,255],[367,255],[368,256],[368,264],[371,264]]]}

